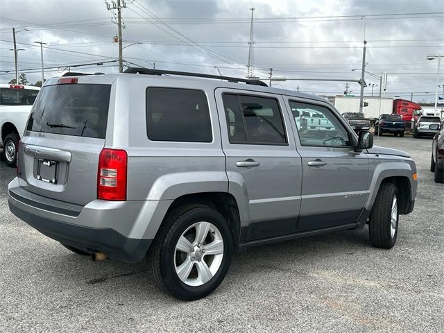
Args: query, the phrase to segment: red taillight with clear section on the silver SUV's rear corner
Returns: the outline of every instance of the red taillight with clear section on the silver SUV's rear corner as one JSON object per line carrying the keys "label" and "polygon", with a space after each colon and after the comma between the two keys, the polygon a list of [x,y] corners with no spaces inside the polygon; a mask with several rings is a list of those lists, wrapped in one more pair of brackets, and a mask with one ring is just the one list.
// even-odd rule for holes
{"label": "red taillight with clear section on the silver SUV's rear corner", "polygon": [[126,200],[126,169],[128,154],[118,149],[103,148],[99,156],[97,198]]}

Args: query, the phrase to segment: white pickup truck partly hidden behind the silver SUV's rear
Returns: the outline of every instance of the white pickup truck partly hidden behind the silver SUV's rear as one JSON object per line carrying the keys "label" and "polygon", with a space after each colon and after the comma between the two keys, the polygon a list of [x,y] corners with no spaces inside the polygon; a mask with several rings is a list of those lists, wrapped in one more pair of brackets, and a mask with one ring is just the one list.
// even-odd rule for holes
{"label": "white pickup truck partly hidden behind the silver SUV's rear", "polygon": [[16,151],[40,87],[0,84],[0,146],[8,167],[15,167]]}

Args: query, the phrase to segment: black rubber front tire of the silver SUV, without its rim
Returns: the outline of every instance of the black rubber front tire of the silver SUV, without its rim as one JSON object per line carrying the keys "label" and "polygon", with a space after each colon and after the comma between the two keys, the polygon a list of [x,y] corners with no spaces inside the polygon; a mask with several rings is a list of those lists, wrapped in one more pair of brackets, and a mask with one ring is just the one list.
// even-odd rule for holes
{"label": "black rubber front tire of the silver SUV, without its rim", "polygon": [[[391,236],[391,214],[393,196],[397,197],[397,214],[395,223],[395,232]],[[399,221],[399,198],[398,189],[390,182],[383,183],[379,187],[375,204],[373,205],[368,221],[368,234],[370,243],[376,248],[393,248],[398,237]]]}

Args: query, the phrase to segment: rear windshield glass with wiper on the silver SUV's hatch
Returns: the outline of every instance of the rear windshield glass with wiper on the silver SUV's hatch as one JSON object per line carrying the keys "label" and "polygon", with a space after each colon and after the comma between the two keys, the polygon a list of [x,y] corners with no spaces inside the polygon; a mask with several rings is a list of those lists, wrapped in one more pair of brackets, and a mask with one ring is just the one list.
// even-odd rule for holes
{"label": "rear windshield glass with wiper on the silver SUV's hatch", "polygon": [[49,85],[40,90],[27,130],[105,139],[111,85]]}

